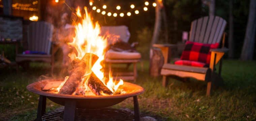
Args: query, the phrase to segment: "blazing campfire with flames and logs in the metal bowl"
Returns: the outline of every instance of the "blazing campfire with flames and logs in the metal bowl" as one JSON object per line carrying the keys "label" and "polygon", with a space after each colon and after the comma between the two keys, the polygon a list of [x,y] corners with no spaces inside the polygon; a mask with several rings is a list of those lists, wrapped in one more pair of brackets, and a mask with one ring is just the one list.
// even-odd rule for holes
{"label": "blazing campfire with flames and logs in the metal bowl", "polygon": [[76,9],[76,15],[81,21],[73,22],[76,36],[73,38],[72,43],[68,43],[77,51],[77,53],[72,52],[69,54],[73,67],[69,71],[70,75],[61,83],[46,84],[43,90],[69,95],[113,95],[126,93],[118,89],[120,85],[123,85],[122,79],[117,83],[111,77],[111,72],[108,78],[104,77],[101,62],[104,60],[108,35],[99,36],[100,25],[97,22],[92,22],[91,15],[87,12],[86,7],[84,10],[85,14],[82,16],[80,8]]}

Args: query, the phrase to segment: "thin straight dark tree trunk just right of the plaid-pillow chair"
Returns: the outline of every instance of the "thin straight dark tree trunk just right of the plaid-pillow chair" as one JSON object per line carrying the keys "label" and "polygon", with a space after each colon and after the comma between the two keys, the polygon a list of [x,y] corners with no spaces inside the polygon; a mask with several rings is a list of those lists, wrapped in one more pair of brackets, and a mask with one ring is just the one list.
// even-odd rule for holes
{"label": "thin straight dark tree trunk just right of the plaid-pillow chair", "polygon": [[229,0],[229,34],[228,34],[228,58],[233,59],[234,58],[234,17],[233,17],[233,0]]}

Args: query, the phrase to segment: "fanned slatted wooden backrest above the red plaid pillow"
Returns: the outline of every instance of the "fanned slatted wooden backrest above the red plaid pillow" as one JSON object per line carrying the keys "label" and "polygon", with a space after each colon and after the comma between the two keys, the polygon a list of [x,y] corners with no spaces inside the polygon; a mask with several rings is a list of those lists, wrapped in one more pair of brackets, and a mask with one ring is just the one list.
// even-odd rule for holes
{"label": "fanned slatted wooden backrest above the red plaid pillow", "polygon": [[219,16],[205,16],[191,23],[189,41],[204,44],[220,43],[227,22]]}

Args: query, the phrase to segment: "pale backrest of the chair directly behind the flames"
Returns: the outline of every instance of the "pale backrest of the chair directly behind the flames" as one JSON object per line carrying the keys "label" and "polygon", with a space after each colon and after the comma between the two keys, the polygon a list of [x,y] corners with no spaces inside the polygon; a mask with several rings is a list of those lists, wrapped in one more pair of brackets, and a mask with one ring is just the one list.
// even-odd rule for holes
{"label": "pale backrest of the chair directly behind the flames", "polygon": [[109,32],[109,34],[118,35],[120,36],[120,40],[124,42],[128,42],[129,38],[131,36],[128,27],[126,26],[103,26],[101,27],[101,35],[106,34],[106,32]]}

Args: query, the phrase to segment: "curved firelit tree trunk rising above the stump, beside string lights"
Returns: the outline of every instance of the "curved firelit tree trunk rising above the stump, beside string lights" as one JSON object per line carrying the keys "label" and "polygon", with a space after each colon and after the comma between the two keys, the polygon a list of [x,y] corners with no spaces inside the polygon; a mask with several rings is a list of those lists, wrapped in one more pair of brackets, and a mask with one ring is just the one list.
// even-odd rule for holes
{"label": "curved firelit tree trunk rising above the stump, beside string lights", "polygon": [[155,2],[157,3],[156,5],[156,20],[155,20],[155,27],[154,27],[154,33],[153,33],[153,37],[151,40],[151,47],[153,46],[153,44],[156,44],[157,40],[158,40],[158,36],[159,36],[159,32],[161,29],[161,4],[159,3],[158,0],[155,0]]}

